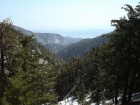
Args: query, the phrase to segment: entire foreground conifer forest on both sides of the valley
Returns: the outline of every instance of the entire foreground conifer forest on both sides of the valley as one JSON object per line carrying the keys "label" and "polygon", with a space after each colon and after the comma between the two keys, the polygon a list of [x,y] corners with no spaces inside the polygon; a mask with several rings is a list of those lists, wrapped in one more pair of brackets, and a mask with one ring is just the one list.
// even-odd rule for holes
{"label": "entire foreground conifer forest on both sides of the valley", "polygon": [[113,99],[132,104],[140,92],[140,5],[123,7],[127,16],[112,20],[109,41],[94,46],[83,58],[60,57],[38,44],[33,35],[14,30],[10,19],[0,23],[0,105],[56,105],[69,96],[79,104]]}

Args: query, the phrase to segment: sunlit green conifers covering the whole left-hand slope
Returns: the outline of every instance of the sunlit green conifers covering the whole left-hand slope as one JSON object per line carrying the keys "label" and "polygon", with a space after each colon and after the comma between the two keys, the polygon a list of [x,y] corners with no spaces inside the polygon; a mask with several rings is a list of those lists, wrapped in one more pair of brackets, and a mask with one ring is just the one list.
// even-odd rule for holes
{"label": "sunlit green conifers covering the whole left-hand slope", "polygon": [[26,36],[15,31],[9,20],[1,22],[0,27],[0,105],[56,103],[54,65],[58,64],[59,58],[53,56],[51,62],[48,59],[45,61],[44,58],[52,54],[45,53],[33,35]]}

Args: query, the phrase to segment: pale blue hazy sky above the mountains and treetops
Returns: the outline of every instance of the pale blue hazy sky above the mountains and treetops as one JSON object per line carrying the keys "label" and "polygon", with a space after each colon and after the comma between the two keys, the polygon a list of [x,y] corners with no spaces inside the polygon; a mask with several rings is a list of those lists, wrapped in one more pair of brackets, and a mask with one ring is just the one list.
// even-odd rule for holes
{"label": "pale blue hazy sky above the mountains and treetops", "polygon": [[14,25],[33,32],[49,30],[112,30],[112,19],[139,0],[0,0],[0,21],[10,18]]}

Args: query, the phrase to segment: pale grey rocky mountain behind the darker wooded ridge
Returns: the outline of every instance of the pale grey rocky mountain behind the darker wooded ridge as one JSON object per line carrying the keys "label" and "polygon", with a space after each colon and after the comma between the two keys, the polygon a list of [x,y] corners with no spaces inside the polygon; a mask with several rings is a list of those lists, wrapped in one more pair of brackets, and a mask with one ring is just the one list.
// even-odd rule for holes
{"label": "pale grey rocky mountain behind the darker wooded ridge", "polygon": [[26,29],[23,29],[17,26],[14,26],[14,28],[15,30],[20,31],[21,33],[25,35],[34,34],[35,35],[34,37],[36,38],[37,42],[44,45],[47,49],[49,49],[50,51],[54,53],[58,53],[63,48],[82,40],[81,38],[63,37],[55,33],[34,33],[34,32],[28,31]]}

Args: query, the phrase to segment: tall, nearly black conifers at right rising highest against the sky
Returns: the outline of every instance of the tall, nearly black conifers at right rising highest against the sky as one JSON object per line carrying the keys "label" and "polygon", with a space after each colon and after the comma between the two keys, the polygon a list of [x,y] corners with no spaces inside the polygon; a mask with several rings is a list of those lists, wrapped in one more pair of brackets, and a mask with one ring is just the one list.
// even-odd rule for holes
{"label": "tall, nearly black conifers at right rising highest against the sky", "polygon": [[[127,16],[120,18],[120,20],[112,20],[112,25],[116,27],[115,32],[110,36],[107,49],[111,49],[111,52],[107,52],[109,64],[107,74],[111,75],[111,82],[114,84],[115,91],[115,103],[117,103],[118,90],[123,90],[122,103],[127,104],[127,100],[131,101],[131,95],[134,90],[135,77],[139,74],[136,67],[136,63],[139,53],[139,17],[135,9],[130,5],[126,5],[124,8],[127,11]],[[137,52],[137,53],[136,53]],[[106,68],[107,69],[107,68]],[[123,81],[122,81],[123,80]],[[123,87],[120,87],[123,86]],[[129,91],[129,92],[128,92]],[[129,98],[126,95],[129,93]]]}

